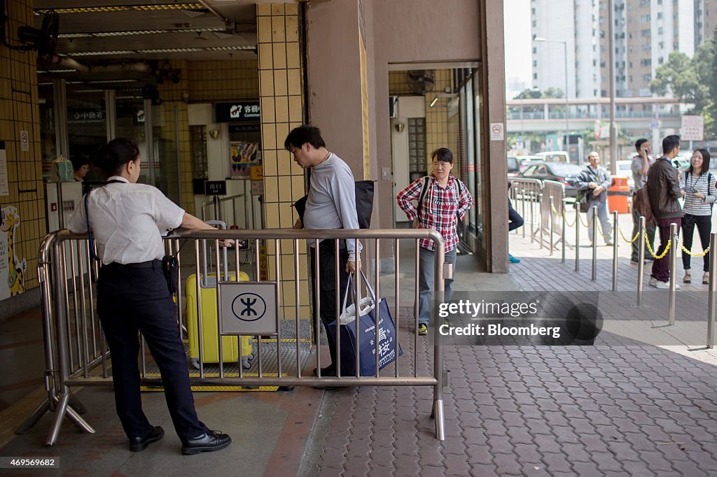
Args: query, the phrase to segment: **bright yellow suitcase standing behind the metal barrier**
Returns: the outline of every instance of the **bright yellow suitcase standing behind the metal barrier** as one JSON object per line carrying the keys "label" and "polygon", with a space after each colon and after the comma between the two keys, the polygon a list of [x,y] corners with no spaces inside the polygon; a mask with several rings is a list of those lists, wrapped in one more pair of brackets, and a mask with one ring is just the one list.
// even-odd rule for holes
{"label": "bright yellow suitcase standing behind the metal barrier", "polygon": [[[217,274],[207,274],[206,283],[199,284],[201,290],[201,346],[205,363],[219,362],[219,339],[217,330],[219,319],[217,314]],[[234,281],[236,274],[229,273],[229,281]],[[239,271],[239,281],[249,281],[249,276]],[[189,359],[192,365],[199,368],[199,323],[196,319],[196,275],[186,279],[186,329],[189,334]],[[252,337],[242,336],[242,366],[251,367]],[[222,362],[239,362],[239,347],[236,336],[222,337]]]}

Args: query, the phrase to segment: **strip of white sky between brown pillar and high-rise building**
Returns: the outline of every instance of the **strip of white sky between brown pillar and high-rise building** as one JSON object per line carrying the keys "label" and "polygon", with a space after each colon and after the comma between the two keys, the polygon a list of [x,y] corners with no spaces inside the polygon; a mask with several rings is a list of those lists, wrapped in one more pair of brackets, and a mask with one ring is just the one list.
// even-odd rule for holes
{"label": "strip of white sky between brown pillar and high-rise building", "polygon": [[505,80],[518,77],[531,86],[531,2],[503,0],[505,18]]}

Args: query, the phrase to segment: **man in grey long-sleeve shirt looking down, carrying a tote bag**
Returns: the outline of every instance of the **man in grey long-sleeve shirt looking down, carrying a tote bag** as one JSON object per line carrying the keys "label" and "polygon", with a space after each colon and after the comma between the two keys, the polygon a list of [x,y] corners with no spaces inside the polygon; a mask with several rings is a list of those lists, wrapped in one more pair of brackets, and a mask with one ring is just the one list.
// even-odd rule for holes
{"label": "man in grey long-sleeve shirt looking down, carrying a tote bag", "polygon": [[[359,228],[359,219],[356,216],[356,189],[353,174],[341,158],[326,149],[326,143],[321,138],[318,127],[303,125],[295,127],[284,141],[284,147],[294,156],[295,162],[301,168],[311,169],[310,188],[303,223],[297,221],[295,228],[321,229],[321,228]],[[333,240],[319,242],[319,276],[320,284],[316,283],[316,251],[311,247],[311,276],[314,290],[319,288],[320,316],[324,327],[336,320],[337,313],[343,307],[343,291],[348,283],[348,273],[356,273],[356,264],[361,269],[361,243],[356,251],[353,240],[341,241],[338,251],[335,250]],[[339,267],[339,285],[341,288],[341,303],[336,309],[336,253],[339,262],[346,266]],[[356,256],[359,259],[356,261]],[[316,304],[313,304],[316,316]],[[315,330],[316,331],[316,330]],[[331,351],[331,365],[321,369],[323,376],[336,376],[336,348],[333,337],[328,335],[329,350]],[[314,370],[315,372],[315,370]],[[343,374],[343,373],[342,373]]]}

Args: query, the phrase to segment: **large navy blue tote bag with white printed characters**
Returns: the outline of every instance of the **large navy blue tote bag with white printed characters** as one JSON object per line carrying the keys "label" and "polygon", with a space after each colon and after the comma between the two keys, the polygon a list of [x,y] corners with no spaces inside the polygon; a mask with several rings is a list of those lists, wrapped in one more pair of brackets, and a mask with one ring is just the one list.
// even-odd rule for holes
{"label": "large navy blue tote bag with white printed characters", "polygon": [[[359,343],[359,365],[361,376],[376,375],[376,294],[371,289],[366,275],[361,271],[361,277],[366,284],[369,297],[359,297],[359,339],[356,339],[356,307],[348,304],[348,291],[353,290],[351,275],[348,276],[346,291],[343,299],[343,312],[339,318],[341,327],[341,376],[356,376],[356,343]],[[355,294],[351,295],[352,297]],[[385,298],[379,302],[379,370],[384,369],[391,362],[396,360],[398,355],[403,355],[401,345],[398,342],[398,334],[394,320],[389,312],[389,304]],[[336,321],[328,324],[328,339],[336,339]]]}

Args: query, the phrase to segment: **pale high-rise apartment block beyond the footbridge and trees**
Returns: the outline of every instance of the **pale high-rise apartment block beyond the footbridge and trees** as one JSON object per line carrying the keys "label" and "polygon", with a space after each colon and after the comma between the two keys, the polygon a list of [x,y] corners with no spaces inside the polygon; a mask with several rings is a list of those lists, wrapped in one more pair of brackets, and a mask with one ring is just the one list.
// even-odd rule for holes
{"label": "pale high-rise apartment block beyond the footbridge and trees", "polygon": [[[692,56],[717,26],[716,0],[613,0],[615,90],[650,96],[655,71],[677,50]],[[533,85],[569,97],[609,96],[607,0],[531,0]],[[542,41],[547,40],[547,42]]]}

